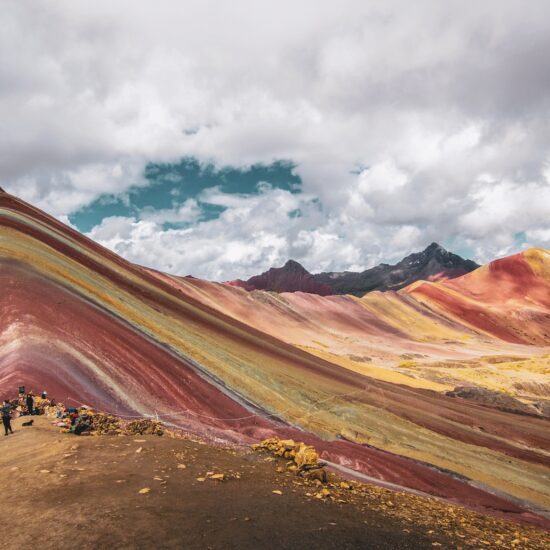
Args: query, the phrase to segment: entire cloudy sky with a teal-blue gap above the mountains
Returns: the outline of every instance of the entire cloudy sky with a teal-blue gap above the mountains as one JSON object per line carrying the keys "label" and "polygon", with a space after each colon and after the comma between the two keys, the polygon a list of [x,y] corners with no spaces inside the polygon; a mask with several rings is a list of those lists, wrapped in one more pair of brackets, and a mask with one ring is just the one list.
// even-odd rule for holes
{"label": "entire cloudy sky with a teal-blue gap above the mountains", "polygon": [[550,247],[546,0],[4,0],[0,185],[140,264]]}

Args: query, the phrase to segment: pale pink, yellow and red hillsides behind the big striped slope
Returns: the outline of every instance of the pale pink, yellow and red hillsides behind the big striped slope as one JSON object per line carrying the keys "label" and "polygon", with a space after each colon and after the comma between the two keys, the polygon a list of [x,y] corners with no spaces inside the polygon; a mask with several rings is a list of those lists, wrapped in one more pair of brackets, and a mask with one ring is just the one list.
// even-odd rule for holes
{"label": "pale pink, yellow and red hillsides behind the big striped slope", "polygon": [[[540,273],[544,265],[539,261]],[[476,384],[530,401],[550,398],[545,336],[549,308],[534,305],[534,299],[548,291],[548,279],[536,275],[523,286],[523,296],[501,308],[468,291],[466,282],[482,278],[486,270],[449,281],[449,286],[419,282],[399,292],[371,292],[363,298],[244,292],[191,277],[157,276],[250,326],[380,380],[436,391]],[[450,286],[462,280],[465,290]],[[472,316],[492,321],[475,323]],[[526,317],[531,322],[520,322],[520,337],[510,327]],[[495,355],[502,367],[495,367]]]}

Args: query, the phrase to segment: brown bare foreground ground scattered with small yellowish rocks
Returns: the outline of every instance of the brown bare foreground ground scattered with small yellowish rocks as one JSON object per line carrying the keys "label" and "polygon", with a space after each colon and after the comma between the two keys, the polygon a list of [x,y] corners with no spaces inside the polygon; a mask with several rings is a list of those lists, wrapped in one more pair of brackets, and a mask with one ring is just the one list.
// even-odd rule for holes
{"label": "brown bare foreground ground scattered with small yellowish rocks", "polygon": [[266,452],[159,436],[61,434],[37,418],[0,440],[2,548],[533,548],[547,533]]}

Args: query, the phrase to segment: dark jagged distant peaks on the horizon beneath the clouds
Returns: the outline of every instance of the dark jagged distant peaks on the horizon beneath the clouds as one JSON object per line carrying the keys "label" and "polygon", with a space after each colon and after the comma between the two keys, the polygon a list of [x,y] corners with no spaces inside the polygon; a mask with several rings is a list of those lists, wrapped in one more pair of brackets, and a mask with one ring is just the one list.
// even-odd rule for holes
{"label": "dark jagged distant peaks on the horizon beneath the clouds", "polygon": [[478,267],[472,260],[465,260],[441,245],[432,243],[422,252],[410,254],[395,265],[380,264],[361,272],[325,272],[313,275],[298,262],[289,260],[283,267],[271,268],[247,281],[237,279],[226,284],[248,291],[300,291],[321,296],[363,296],[373,290],[399,290],[418,280],[454,279]]}

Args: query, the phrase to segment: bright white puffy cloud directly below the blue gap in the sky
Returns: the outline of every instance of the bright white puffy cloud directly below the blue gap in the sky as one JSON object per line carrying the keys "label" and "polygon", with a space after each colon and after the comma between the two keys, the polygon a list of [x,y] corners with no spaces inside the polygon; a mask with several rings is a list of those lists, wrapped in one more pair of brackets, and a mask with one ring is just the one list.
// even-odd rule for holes
{"label": "bright white puffy cloud directly below the blue gap in the sky", "polygon": [[[253,196],[212,190],[203,194],[206,197],[226,207],[219,218],[164,229],[173,211],[139,220],[116,216],[104,219],[88,235],[138,264],[215,280],[247,278],[288,258],[300,258],[312,270],[334,269],[343,262],[361,265],[356,243],[338,237],[331,227],[311,227],[320,214],[317,204],[303,194],[263,188]],[[190,206],[196,215],[196,205]],[[296,210],[303,215],[291,216]]]}

